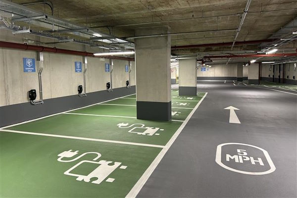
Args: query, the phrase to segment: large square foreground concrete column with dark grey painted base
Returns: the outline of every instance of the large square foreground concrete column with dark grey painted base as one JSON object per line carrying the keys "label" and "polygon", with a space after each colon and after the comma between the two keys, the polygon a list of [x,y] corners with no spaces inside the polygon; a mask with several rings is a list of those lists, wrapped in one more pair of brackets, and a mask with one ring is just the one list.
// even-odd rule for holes
{"label": "large square foreground concrete column with dark grey painted base", "polygon": [[[136,36],[166,34],[169,27],[136,29]],[[135,39],[137,119],[171,120],[170,36]]]}

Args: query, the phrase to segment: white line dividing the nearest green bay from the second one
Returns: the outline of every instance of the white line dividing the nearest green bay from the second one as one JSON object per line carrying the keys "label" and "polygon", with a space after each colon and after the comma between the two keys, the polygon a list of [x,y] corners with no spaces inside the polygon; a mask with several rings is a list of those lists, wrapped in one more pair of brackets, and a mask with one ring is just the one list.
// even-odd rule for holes
{"label": "white line dividing the nearest green bay from the second one", "polygon": [[114,141],[114,140],[83,138],[83,137],[76,137],[76,136],[62,136],[62,135],[54,135],[54,134],[47,134],[47,133],[33,133],[33,132],[15,131],[15,130],[8,130],[8,129],[0,129],[0,131],[10,132],[10,133],[21,133],[21,134],[37,135],[37,136],[48,136],[48,137],[55,137],[55,138],[66,138],[66,139],[87,140],[87,141],[95,141],[95,142],[115,143],[115,144],[123,144],[123,145],[135,145],[135,146],[144,146],[144,147],[165,148],[165,146],[161,146],[161,145],[150,145],[150,144],[132,143],[132,142],[123,142],[123,141]]}

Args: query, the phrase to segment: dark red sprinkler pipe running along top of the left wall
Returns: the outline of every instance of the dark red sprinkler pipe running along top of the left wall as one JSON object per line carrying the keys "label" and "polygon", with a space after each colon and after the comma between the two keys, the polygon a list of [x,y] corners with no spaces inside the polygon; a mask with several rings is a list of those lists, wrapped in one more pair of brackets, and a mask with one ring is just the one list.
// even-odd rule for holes
{"label": "dark red sprinkler pipe running along top of the left wall", "polygon": [[92,56],[92,57],[99,57],[99,58],[109,58],[109,59],[120,59],[120,60],[132,60],[134,58],[128,57],[121,57],[121,56],[94,56],[91,52],[86,51],[75,51],[69,49],[58,49],[58,48],[48,48],[43,46],[32,46],[27,44],[18,44],[18,43],[10,43],[0,41],[0,48],[9,48],[9,49],[22,49],[22,50],[31,50],[31,51],[43,51],[43,52],[50,52],[50,53],[64,53],[64,54],[71,54],[71,55],[81,55],[81,56]]}

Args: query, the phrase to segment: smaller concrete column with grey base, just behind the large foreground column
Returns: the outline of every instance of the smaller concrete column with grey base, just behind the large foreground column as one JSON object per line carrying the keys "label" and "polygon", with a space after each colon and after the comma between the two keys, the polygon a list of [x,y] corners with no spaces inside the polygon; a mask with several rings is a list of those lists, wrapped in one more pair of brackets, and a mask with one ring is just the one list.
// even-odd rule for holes
{"label": "smaller concrete column with grey base, just behind the large foreground column", "polygon": [[197,59],[179,60],[179,95],[197,95]]}

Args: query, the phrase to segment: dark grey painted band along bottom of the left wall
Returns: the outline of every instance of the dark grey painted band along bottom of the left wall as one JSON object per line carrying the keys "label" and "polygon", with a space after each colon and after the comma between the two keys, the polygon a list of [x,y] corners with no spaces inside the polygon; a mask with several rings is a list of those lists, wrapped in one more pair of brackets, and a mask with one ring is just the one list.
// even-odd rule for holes
{"label": "dark grey painted band along bottom of the left wall", "polygon": [[32,105],[28,101],[25,103],[0,106],[0,127],[95,104],[109,99],[115,99],[125,95],[135,94],[135,90],[135,86],[131,86],[129,89],[122,87],[113,89],[113,92],[99,91],[87,93],[87,97],[74,95],[45,99],[44,104],[38,105]]}

